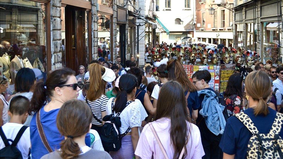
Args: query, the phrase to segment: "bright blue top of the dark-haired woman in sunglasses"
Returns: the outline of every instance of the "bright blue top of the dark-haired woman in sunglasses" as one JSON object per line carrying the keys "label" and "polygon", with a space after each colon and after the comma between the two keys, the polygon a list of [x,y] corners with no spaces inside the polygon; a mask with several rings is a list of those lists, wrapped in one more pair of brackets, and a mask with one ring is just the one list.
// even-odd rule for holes
{"label": "bright blue top of the dark-haired woman in sunglasses", "polygon": [[[64,136],[60,134],[56,126],[56,117],[60,109],[53,109],[49,112],[45,112],[43,108],[44,106],[40,109],[40,121],[46,139],[52,150],[55,151],[57,149],[60,149],[60,142],[65,139]],[[39,159],[49,152],[47,151],[46,147],[44,146],[39,136],[39,132],[36,126],[36,115],[37,114],[35,114],[32,117],[32,120],[30,122],[30,142],[32,145],[31,147],[32,158]],[[90,146],[89,133],[86,135],[86,145]]]}

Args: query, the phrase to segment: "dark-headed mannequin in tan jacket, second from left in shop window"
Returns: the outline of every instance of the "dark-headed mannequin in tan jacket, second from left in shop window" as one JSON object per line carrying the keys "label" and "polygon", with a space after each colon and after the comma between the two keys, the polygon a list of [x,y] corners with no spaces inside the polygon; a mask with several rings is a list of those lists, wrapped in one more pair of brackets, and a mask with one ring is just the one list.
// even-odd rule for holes
{"label": "dark-headed mannequin in tan jacket, second from left in shop window", "polygon": [[22,60],[22,51],[17,46],[17,44],[13,45],[13,51],[15,54],[14,59],[12,59],[10,63],[10,75],[11,75],[11,83],[15,83],[15,78],[19,70],[24,67],[23,60]]}

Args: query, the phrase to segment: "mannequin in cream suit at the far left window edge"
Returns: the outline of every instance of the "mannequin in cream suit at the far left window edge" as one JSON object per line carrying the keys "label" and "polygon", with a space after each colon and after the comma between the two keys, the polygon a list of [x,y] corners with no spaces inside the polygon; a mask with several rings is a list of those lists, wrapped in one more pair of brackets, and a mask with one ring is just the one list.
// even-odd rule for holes
{"label": "mannequin in cream suit at the far left window edge", "polygon": [[7,51],[10,50],[10,43],[8,41],[2,41],[0,44],[0,61],[1,61],[1,72],[10,79],[10,57],[7,54]]}

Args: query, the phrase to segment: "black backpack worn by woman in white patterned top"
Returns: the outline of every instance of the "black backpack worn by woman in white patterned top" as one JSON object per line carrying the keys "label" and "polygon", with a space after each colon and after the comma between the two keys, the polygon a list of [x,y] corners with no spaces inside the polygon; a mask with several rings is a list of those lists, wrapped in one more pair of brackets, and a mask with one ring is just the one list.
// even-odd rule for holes
{"label": "black backpack worn by woman in white patterned top", "polygon": [[104,150],[108,152],[118,151],[122,145],[121,138],[124,137],[131,129],[130,127],[128,127],[128,129],[124,134],[120,134],[121,118],[119,117],[119,115],[133,101],[127,102],[126,106],[116,116],[114,116],[114,112],[113,112],[114,99],[115,98],[113,98],[111,104],[112,114],[104,116],[103,121],[105,121],[105,123],[102,126],[100,132],[102,146]]}

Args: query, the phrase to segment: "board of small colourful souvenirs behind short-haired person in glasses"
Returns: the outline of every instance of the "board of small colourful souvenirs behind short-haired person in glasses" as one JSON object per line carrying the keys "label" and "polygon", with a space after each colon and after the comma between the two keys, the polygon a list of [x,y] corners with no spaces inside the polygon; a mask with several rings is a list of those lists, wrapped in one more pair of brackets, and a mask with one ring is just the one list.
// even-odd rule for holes
{"label": "board of small colourful souvenirs behind short-haired person in glasses", "polygon": [[215,91],[219,91],[219,73],[220,66],[216,65],[183,65],[188,78],[192,81],[193,74],[198,70],[208,70],[211,74],[211,80],[208,85]]}

